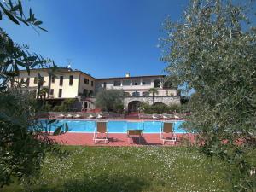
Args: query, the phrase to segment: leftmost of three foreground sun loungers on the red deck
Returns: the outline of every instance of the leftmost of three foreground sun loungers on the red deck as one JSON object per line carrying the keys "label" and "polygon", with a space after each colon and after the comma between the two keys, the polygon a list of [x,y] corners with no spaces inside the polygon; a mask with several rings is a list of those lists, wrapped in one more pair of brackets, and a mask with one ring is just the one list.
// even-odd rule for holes
{"label": "leftmost of three foreground sun loungers on the red deck", "polygon": [[108,122],[107,121],[96,121],[93,141],[94,143],[108,143]]}

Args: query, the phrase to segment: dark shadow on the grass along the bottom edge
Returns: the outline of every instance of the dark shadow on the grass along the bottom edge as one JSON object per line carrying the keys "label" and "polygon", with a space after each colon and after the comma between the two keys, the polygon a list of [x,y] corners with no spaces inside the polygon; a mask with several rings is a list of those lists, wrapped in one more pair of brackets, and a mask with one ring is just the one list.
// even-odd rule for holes
{"label": "dark shadow on the grass along the bottom edge", "polygon": [[[57,184],[56,184],[57,185]],[[99,175],[96,177],[84,176],[82,179],[70,180],[58,186],[38,186],[33,192],[141,192],[148,186],[142,177],[120,176],[108,177]]]}

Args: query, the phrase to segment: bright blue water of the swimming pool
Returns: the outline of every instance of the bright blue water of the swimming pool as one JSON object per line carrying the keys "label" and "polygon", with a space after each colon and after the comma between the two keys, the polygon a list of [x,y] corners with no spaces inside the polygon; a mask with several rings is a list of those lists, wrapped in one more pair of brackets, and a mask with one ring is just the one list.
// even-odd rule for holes
{"label": "bright blue water of the swimming pool", "polygon": [[[48,127],[48,120],[41,120],[44,127]],[[184,121],[174,121],[174,131],[176,133],[185,133],[183,129]],[[51,124],[50,131],[55,131],[55,129],[67,123],[69,132],[94,132],[96,128],[95,120],[69,120],[69,119],[59,119],[55,123]],[[127,129],[143,129],[144,133],[160,133],[162,126],[162,121],[119,121],[119,120],[109,120],[108,121],[108,131],[110,133],[126,133]],[[64,129],[64,128],[63,128]]]}

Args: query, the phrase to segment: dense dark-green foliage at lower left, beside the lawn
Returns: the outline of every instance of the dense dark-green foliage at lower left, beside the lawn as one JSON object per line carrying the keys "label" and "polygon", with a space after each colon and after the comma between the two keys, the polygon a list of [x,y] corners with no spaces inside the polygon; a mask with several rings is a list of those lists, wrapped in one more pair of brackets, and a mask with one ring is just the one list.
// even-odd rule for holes
{"label": "dense dark-green foliage at lower left, beside the lawn", "polygon": [[[37,102],[18,92],[0,94],[0,188],[19,180],[32,181],[39,173],[47,151],[61,154],[45,137],[44,127],[35,118]],[[33,130],[31,129],[33,127]]]}

